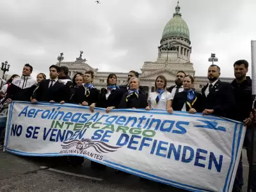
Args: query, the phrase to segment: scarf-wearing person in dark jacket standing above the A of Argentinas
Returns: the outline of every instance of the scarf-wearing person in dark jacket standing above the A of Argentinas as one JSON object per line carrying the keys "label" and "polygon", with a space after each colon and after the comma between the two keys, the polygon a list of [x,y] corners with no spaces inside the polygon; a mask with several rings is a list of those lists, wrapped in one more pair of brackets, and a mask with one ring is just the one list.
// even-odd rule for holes
{"label": "scarf-wearing person in dark jacket standing above the A of Argentinas", "polygon": [[90,106],[90,111],[93,112],[95,104],[99,100],[99,91],[92,84],[93,81],[93,71],[88,70],[84,74],[84,101],[81,102],[81,106]]}

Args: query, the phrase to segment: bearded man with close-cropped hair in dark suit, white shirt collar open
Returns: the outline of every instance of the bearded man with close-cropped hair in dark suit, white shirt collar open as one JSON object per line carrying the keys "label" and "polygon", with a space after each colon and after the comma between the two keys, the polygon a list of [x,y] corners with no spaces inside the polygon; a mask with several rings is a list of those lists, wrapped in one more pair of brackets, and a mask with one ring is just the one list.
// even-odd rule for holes
{"label": "bearded man with close-cropped hair in dark suit, white shirt collar open", "polygon": [[232,117],[235,106],[234,94],[229,83],[220,81],[220,67],[210,65],[208,68],[208,79],[204,88],[203,96],[203,115],[218,115],[227,118]]}

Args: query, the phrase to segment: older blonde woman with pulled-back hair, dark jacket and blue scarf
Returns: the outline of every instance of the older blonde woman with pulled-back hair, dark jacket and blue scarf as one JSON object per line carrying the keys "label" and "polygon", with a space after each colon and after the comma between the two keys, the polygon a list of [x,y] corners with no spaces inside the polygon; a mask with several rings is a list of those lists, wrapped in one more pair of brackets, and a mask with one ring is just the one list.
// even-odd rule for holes
{"label": "older blonde woman with pulled-back hair, dark jacket and blue scarf", "polygon": [[124,94],[118,108],[145,109],[147,95],[139,90],[138,77],[132,77],[129,86],[130,90]]}

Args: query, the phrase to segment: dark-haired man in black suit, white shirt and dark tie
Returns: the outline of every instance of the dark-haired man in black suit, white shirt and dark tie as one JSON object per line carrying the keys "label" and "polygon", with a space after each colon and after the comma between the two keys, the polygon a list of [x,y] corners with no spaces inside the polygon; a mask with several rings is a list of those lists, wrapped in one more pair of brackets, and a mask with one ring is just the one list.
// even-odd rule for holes
{"label": "dark-haired man in black suit, white shirt and dark tie", "polygon": [[67,97],[67,88],[58,80],[60,67],[51,65],[49,70],[51,79],[45,79],[39,84],[31,97],[31,102],[45,101],[63,104]]}

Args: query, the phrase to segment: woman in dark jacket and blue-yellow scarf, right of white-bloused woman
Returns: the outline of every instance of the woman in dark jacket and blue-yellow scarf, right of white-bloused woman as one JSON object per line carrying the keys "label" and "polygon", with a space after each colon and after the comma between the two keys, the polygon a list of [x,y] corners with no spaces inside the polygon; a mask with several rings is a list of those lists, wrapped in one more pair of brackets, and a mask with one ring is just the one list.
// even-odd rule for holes
{"label": "woman in dark jacket and blue-yellow scarf, right of white-bloused woman", "polygon": [[189,113],[202,112],[202,95],[192,90],[194,78],[185,76],[183,79],[183,92],[175,94],[172,102],[174,111],[188,111]]}

